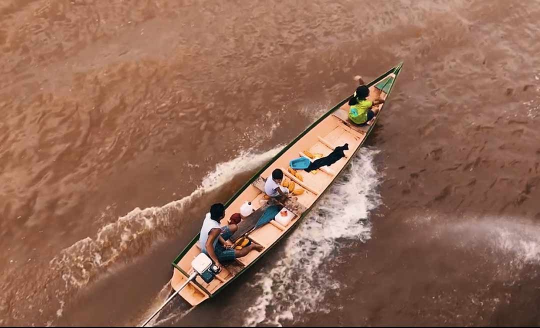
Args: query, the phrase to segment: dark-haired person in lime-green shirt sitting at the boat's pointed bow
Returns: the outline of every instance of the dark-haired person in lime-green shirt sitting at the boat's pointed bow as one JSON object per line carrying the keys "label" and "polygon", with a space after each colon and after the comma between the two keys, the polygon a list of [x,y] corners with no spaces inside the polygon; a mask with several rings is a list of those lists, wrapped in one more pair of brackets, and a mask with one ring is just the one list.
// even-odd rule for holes
{"label": "dark-haired person in lime-green shirt sitting at the boat's pointed bow", "polygon": [[368,86],[364,84],[364,81],[360,76],[356,76],[355,79],[360,83],[360,86],[356,88],[353,97],[349,99],[349,119],[355,124],[365,124],[371,121],[377,113],[379,113],[379,108],[372,110],[373,106],[383,104],[384,100],[367,100],[367,97],[369,97]]}

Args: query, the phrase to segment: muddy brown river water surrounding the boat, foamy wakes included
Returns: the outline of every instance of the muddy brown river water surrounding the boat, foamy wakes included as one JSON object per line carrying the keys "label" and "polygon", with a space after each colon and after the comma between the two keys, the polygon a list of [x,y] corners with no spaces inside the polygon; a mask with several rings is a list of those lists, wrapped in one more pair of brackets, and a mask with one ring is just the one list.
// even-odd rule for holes
{"label": "muddy brown river water surrounding the boat, foamy wakes included", "polygon": [[540,1],[0,0],[0,324],[137,325],[280,147],[400,61],[365,149],[154,325],[539,325]]}

